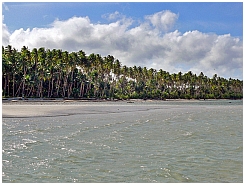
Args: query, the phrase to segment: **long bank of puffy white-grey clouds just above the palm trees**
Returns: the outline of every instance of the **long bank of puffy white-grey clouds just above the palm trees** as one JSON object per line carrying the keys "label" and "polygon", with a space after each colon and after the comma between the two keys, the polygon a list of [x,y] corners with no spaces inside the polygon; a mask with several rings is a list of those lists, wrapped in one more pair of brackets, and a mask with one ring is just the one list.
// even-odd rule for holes
{"label": "long bank of puffy white-grey clouds just above the palm trees", "polygon": [[[103,16],[102,16],[103,17]],[[242,79],[243,44],[230,34],[217,35],[192,30],[181,33],[172,30],[179,15],[161,11],[147,15],[144,21],[127,18],[119,12],[104,15],[108,24],[92,23],[89,17],[55,20],[47,28],[9,33],[2,24],[2,44],[16,49],[22,46],[83,50],[87,54],[108,54],[123,65],[146,66],[170,73],[215,73],[225,78]]]}

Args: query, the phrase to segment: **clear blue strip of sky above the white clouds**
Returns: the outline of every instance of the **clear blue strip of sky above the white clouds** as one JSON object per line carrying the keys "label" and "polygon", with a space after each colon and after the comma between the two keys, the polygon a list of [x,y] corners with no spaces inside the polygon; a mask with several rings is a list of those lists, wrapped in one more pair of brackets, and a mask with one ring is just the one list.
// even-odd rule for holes
{"label": "clear blue strip of sky above the white clouds", "polygon": [[[7,8],[6,8],[7,7]],[[7,10],[6,10],[7,9]],[[179,14],[175,26],[181,32],[199,30],[230,33],[242,37],[242,3],[14,3],[3,5],[4,22],[10,31],[19,28],[47,27],[55,19],[66,20],[73,16],[89,16],[93,23],[106,23],[102,15],[118,11],[124,15],[143,20],[145,15],[162,10]]]}

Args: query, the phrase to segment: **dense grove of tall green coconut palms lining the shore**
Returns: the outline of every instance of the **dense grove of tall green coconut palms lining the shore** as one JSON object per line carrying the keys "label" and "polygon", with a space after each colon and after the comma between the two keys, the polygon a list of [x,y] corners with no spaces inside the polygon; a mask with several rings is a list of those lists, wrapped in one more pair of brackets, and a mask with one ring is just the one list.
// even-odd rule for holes
{"label": "dense grove of tall green coconut palms lining the shore", "polygon": [[2,96],[99,99],[214,99],[243,97],[243,82],[122,66],[108,55],[84,51],[2,46]]}

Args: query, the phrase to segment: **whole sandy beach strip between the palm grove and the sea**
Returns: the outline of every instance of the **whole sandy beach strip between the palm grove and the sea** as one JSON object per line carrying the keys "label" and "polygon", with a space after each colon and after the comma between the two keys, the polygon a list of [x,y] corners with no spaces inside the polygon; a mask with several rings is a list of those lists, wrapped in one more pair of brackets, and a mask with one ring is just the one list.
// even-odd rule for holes
{"label": "whole sandy beach strip between the palm grove and the sea", "polygon": [[[24,118],[24,117],[56,117],[69,116],[75,114],[107,114],[132,111],[146,111],[152,109],[170,109],[174,108],[171,102],[181,102],[178,108],[185,108],[185,102],[210,102],[213,100],[45,100],[45,99],[28,99],[2,100],[2,117],[3,118]],[[217,100],[216,100],[217,101]],[[149,109],[150,102],[153,102]],[[156,104],[155,104],[155,103]],[[158,102],[165,102],[158,104]],[[184,103],[184,104],[182,104]],[[146,105],[147,104],[147,105]],[[129,108],[130,106],[130,108]]]}

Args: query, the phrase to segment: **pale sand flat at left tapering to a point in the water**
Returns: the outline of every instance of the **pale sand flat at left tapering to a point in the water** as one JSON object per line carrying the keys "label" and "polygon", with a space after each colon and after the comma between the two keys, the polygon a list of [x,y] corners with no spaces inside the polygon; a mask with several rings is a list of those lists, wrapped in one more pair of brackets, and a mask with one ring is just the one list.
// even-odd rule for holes
{"label": "pale sand flat at left tapering to a point in the water", "polygon": [[[76,114],[108,114],[146,111],[148,106],[133,101],[5,101],[2,103],[3,118],[57,117]],[[129,109],[130,106],[130,109]],[[159,108],[154,106],[151,108]]]}

